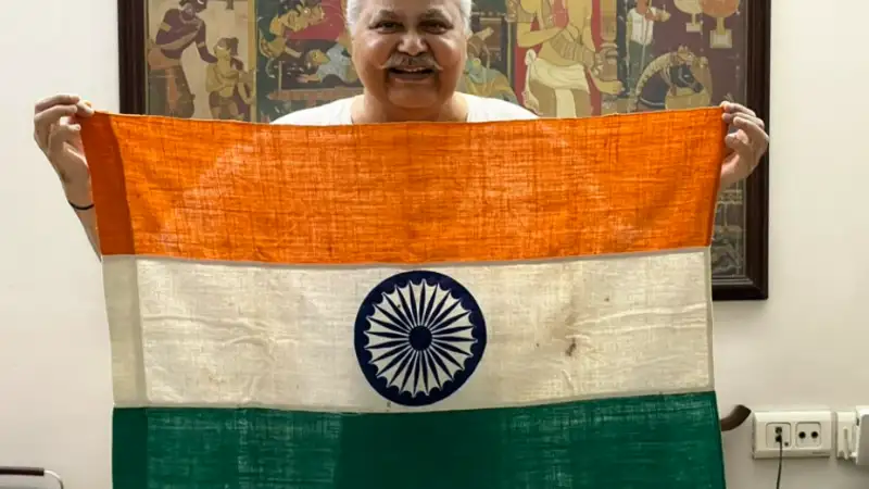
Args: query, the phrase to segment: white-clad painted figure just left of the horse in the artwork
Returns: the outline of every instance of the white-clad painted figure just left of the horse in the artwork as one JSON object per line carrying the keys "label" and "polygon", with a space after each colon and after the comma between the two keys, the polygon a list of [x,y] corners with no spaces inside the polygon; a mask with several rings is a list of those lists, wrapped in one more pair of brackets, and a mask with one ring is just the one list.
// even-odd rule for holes
{"label": "white-clad painted figure just left of the horse in the artwork", "polygon": [[637,0],[637,7],[628,11],[628,89],[637,87],[637,80],[646,65],[658,53],[655,52],[655,24],[667,22],[670,14],[652,7],[651,0]]}

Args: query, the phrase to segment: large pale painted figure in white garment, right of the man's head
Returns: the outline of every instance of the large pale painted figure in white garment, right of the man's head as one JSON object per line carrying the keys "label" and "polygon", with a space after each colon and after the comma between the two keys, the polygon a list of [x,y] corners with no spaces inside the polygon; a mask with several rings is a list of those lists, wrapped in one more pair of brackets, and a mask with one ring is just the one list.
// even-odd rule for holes
{"label": "large pale painted figure in white garment, right of the man's head", "polygon": [[[530,48],[525,105],[544,117],[584,117],[593,113],[589,79],[604,93],[619,93],[621,83],[602,80],[603,57],[591,30],[592,0],[521,0],[516,40]],[[532,29],[532,25],[537,28]]]}

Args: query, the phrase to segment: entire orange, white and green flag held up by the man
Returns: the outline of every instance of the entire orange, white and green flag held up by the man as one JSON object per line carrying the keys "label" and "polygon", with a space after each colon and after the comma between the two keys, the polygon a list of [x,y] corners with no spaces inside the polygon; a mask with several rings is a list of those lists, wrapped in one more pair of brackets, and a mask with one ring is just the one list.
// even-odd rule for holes
{"label": "entire orange, white and green flag held up by the man", "polygon": [[722,489],[721,110],[84,125],[116,489]]}

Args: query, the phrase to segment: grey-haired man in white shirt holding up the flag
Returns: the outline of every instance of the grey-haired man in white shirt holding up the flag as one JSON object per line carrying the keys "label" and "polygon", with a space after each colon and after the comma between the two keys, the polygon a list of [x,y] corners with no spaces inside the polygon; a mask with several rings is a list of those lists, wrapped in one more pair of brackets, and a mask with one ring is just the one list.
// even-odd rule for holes
{"label": "grey-haired man in white shirt holding up the flag", "polygon": [[[291,113],[276,124],[342,125],[405,121],[487,122],[537,117],[502,100],[456,92],[467,55],[471,0],[348,0],[353,64],[364,93]],[[725,103],[732,129],[721,170],[722,187],[747,177],[767,149],[764,122]],[[60,176],[66,199],[95,249],[96,216],[77,118],[92,110],[77,96],[36,104],[35,138]]]}

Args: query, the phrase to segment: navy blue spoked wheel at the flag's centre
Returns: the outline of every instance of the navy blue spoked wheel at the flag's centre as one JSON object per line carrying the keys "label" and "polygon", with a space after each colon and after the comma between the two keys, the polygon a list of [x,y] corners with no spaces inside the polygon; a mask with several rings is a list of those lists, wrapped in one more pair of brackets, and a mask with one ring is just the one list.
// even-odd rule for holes
{"label": "navy blue spoked wheel at the flag's centre", "polygon": [[456,392],[482,360],[486,319],[474,296],[437,272],[393,275],[360,306],[356,359],[383,398],[424,406]]}

